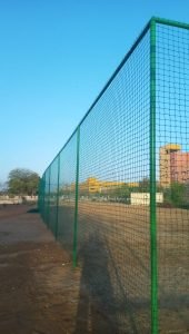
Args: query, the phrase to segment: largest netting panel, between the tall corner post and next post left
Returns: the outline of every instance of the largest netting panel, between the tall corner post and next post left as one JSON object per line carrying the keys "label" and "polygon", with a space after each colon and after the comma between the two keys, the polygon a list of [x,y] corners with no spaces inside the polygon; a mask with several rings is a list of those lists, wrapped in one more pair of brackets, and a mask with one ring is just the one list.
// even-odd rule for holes
{"label": "largest netting panel, between the tall corner post and next post left", "polygon": [[81,285],[110,333],[150,331],[149,82],[148,31],[80,128]]}

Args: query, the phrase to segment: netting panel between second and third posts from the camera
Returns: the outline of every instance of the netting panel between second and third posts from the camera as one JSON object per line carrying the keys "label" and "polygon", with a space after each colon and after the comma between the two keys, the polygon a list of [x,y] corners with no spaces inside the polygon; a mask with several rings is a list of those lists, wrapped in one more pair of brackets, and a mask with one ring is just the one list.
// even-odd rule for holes
{"label": "netting panel between second and third posts from the camera", "polygon": [[60,153],[58,239],[68,252],[73,247],[77,135]]}

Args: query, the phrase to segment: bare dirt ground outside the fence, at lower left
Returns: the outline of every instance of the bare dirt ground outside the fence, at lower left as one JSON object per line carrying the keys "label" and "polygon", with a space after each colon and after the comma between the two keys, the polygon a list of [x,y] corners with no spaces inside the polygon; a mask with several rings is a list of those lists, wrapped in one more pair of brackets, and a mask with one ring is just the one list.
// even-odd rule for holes
{"label": "bare dirt ground outside the fence, at lower left", "polygon": [[116,333],[80,277],[34,207],[0,208],[1,334]]}

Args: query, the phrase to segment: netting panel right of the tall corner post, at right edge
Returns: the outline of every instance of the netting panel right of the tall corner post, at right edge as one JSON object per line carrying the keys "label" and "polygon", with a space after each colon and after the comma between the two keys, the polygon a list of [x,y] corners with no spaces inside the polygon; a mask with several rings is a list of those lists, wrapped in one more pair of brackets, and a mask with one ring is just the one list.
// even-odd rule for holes
{"label": "netting panel right of the tall corner post, at right edge", "polygon": [[[189,30],[157,24],[159,327],[189,331]],[[161,333],[161,332],[160,332]]]}

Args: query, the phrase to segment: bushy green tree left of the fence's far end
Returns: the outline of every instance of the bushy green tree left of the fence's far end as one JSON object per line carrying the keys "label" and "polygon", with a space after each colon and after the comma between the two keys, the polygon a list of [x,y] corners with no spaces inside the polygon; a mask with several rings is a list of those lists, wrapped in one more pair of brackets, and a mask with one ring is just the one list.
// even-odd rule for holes
{"label": "bushy green tree left of the fence's far end", "polygon": [[16,168],[9,173],[8,190],[12,195],[37,195],[39,175],[24,168]]}

